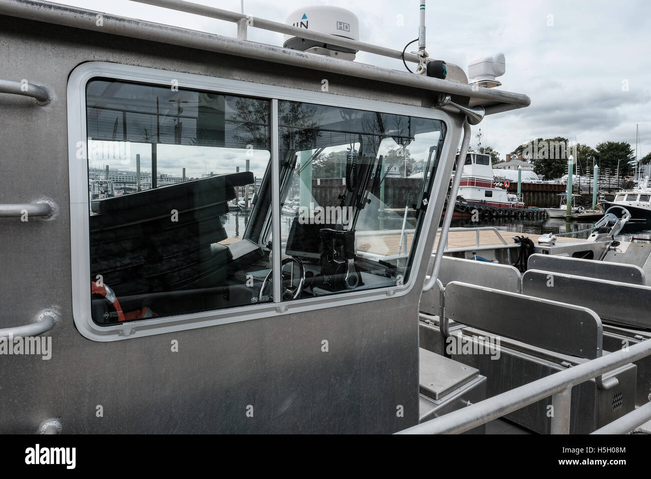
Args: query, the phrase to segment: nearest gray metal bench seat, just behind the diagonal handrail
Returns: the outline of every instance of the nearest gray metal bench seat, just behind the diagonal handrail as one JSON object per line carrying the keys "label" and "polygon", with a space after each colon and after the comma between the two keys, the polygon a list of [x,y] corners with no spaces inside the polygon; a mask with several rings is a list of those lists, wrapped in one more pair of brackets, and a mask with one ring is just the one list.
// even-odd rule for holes
{"label": "nearest gray metal bench seat, just behind the diagonal handrail", "polygon": [[[500,340],[499,355],[478,353],[478,348],[452,355],[488,378],[489,397],[603,354],[602,322],[589,308],[460,282],[448,283],[444,299],[442,323],[452,319],[466,327],[446,341],[480,345]],[[589,433],[632,411],[636,370],[627,364],[574,386],[570,431]],[[547,398],[505,417],[549,433],[550,405]]]}

